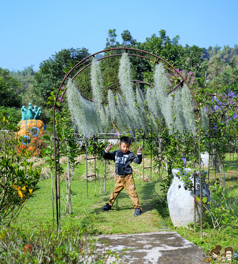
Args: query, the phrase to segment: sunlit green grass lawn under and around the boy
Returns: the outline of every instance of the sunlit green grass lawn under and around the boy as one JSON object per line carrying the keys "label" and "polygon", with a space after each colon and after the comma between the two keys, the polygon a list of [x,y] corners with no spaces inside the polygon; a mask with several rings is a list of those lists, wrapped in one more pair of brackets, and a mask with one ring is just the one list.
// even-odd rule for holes
{"label": "sunlit green grass lawn under and around the boy", "polygon": [[[137,166],[135,165],[135,168]],[[222,248],[231,246],[235,252],[238,250],[238,220],[234,219],[224,227],[220,233],[213,234],[212,221],[208,217],[204,224],[205,236],[200,239],[200,228],[194,230],[186,228],[175,228],[169,216],[166,195],[160,190],[161,181],[156,180],[153,175],[152,182],[143,183],[135,180],[140,204],[143,214],[139,217],[133,216],[134,208],[132,201],[125,189],[120,193],[111,211],[101,211],[101,207],[108,202],[110,193],[113,191],[115,182],[107,180],[106,193],[99,193],[97,182],[97,194],[95,196],[94,180],[88,182],[88,199],[86,196],[86,180],[80,180],[85,171],[85,163],[81,164],[74,175],[71,189],[75,195],[72,197],[72,215],[65,214],[66,192],[65,181],[61,181],[61,226],[80,226],[94,234],[121,234],[141,233],[153,231],[177,231],[181,236],[197,244],[205,251],[212,249],[214,245]],[[102,171],[101,171],[102,172]],[[226,188],[231,189],[232,195],[238,192],[238,163],[230,162],[229,154],[226,158]],[[147,171],[147,175],[149,172]],[[136,178],[137,175],[134,175]],[[219,176],[217,175],[219,178]],[[218,179],[217,178],[217,179]],[[214,181],[214,171],[210,174],[210,180]],[[54,192],[55,192],[55,187]],[[56,214],[56,210],[55,210]],[[52,229],[52,197],[51,179],[42,180],[35,196],[27,201],[19,217],[14,224],[23,230]],[[55,221],[56,226],[56,221]]]}

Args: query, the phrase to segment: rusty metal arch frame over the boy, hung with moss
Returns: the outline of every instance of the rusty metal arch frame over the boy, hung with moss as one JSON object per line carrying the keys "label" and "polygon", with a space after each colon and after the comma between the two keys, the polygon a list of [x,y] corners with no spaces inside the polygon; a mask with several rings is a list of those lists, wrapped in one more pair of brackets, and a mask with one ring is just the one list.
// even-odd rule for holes
{"label": "rusty metal arch frame over the boy, hung with moss", "polygon": [[[166,65],[168,65],[170,68],[172,68],[182,79],[182,82],[185,82],[185,84],[187,84],[187,87],[189,88],[190,92],[191,92],[191,95],[192,95],[192,98],[193,98],[193,101],[195,103],[195,107],[198,108],[198,104],[197,104],[197,101],[196,101],[196,98],[195,98],[195,95],[193,94],[192,92],[192,89],[190,88],[189,84],[187,83],[187,81],[184,79],[184,77],[180,74],[180,72],[178,72],[175,67],[173,67],[169,62],[167,62],[166,60],[162,59],[161,57],[155,55],[155,54],[152,54],[148,51],[145,51],[145,50],[139,50],[139,49],[134,49],[134,48],[128,48],[128,47],[120,47],[120,48],[110,48],[110,49],[106,49],[106,50],[101,50],[101,51],[98,51],[92,55],[89,55],[88,57],[84,58],[83,60],[81,60],[80,62],[78,62],[71,70],[69,70],[69,72],[66,73],[66,75],[64,76],[63,78],[63,81],[61,82],[57,92],[56,92],[56,97],[55,97],[55,101],[54,101],[54,104],[53,104],[53,140],[54,140],[54,162],[55,162],[55,183],[56,183],[56,217],[57,217],[57,227],[59,226],[59,221],[58,221],[58,216],[60,218],[60,210],[58,211],[58,204],[59,204],[59,209],[60,209],[60,181],[59,181],[59,175],[60,175],[60,172],[59,172],[59,162],[58,162],[58,168],[57,168],[57,161],[56,161],[56,140],[58,141],[58,138],[56,138],[56,133],[55,133],[55,125],[56,125],[56,120],[54,118],[55,116],[55,109],[57,108],[57,112],[59,112],[59,107],[56,105],[56,101],[58,100],[58,93],[60,92],[61,90],[61,87],[63,85],[63,83],[65,82],[65,80],[69,77],[69,75],[71,74],[71,72],[73,70],[75,70],[77,67],[83,65],[86,61],[88,61],[90,58],[92,57],[95,57],[95,55],[98,55],[100,53],[105,53],[105,52],[110,52],[110,51],[120,51],[120,50],[125,50],[125,52],[127,53],[127,51],[134,51],[134,52],[138,52],[138,53],[145,53],[145,54],[148,54],[150,55],[151,57],[154,57],[155,60],[152,60],[151,58],[149,57],[146,57],[146,56],[142,56],[142,55],[139,55],[139,54],[128,54],[129,56],[135,56],[135,57],[141,57],[141,58],[144,58],[144,59],[147,59],[147,60],[150,60],[150,61],[153,61],[153,62],[156,62],[157,64],[159,63],[159,61],[161,62],[164,62]],[[113,55],[108,55],[108,56],[105,56],[105,57],[101,57],[99,58],[97,61],[99,60],[103,60],[103,59],[106,59],[106,58],[109,58],[109,57],[116,57],[116,56],[122,56],[122,53],[119,53],[119,54],[113,54]],[[87,64],[86,66],[84,66],[82,69],[80,69],[73,77],[72,79],[74,79],[82,70],[86,69],[86,67],[90,66],[91,63]],[[180,84],[182,84],[182,82]],[[65,90],[64,92],[61,94],[61,99],[60,99],[60,102],[62,101],[62,98],[63,98],[63,95],[65,93]],[[198,118],[198,122],[200,120],[200,116],[199,116],[199,111],[197,111],[197,118]],[[202,216],[202,192],[201,192],[201,187],[202,187],[202,180],[201,180],[201,150],[200,150],[200,140],[201,140],[201,135],[200,135],[200,125],[198,126],[198,151],[199,151],[199,190],[200,190],[200,202],[198,202],[200,204],[200,214]],[[59,155],[59,146],[57,146],[57,155]],[[58,172],[58,190],[57,190],[57,172]],[[195,190],[195,186],[194,186],[194,190]],[[58,192],[57,192],[58,191]],[[195,208],[195,213],[196,213],[196,206],[195,206],[195,203],[196,203],[196,199],[195,199],[195,195],[194,195],[194,208]],[[194,219],[195,221],[195,219]],[[200,217],[200,226],[201,226],[201,239],[202,239],[202,217]]]}

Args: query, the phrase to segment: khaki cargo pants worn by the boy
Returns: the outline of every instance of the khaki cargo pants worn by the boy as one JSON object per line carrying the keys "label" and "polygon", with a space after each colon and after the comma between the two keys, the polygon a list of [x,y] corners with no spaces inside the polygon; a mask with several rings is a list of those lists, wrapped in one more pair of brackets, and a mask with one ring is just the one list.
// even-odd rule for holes
{"label": "khaki cargo pants worn by the boy", "polygon": [[133,174],[124,175],[123,177],[117,176],[117,182],[115,188],[110,196],[108,204],[113,205],[115,199],[118,197],[118,194],[123,190],[126,189],[127,193],[129,194],[130,198],[132,199],[134,208],[140,208],[138,194],[135,190],[135,182],[133,179]]}

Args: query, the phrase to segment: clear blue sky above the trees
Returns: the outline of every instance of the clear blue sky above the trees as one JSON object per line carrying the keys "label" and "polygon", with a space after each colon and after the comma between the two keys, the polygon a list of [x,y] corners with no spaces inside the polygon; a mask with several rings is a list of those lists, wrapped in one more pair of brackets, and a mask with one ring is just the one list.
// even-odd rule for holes
{"label": "clear blue sky above the trees", "polygon": [[103,50],[108,29],[143,42],[160,29],[183,46],[238,44],[238,1],[1,1],[0,67],[23,70],[62,48]]}

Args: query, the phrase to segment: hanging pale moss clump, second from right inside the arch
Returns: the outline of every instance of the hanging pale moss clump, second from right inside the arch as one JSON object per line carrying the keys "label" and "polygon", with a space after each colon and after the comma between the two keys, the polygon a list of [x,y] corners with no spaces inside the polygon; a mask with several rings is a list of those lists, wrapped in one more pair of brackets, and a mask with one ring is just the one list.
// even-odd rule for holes
{"label": "hanging pale moss clump, second from right inside the arch", "polygon": [[174,127],[177,128],[177,130],[180,133],[183,133],[184,131],[186,131],[186,122],[185,122],[185,118],[183,115],[183,109],[182,109],[181,90],[178,90],[175,92],[174,112],[176,116]]}

